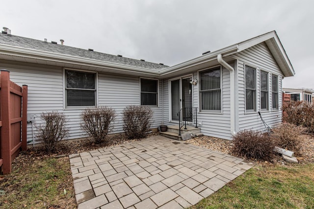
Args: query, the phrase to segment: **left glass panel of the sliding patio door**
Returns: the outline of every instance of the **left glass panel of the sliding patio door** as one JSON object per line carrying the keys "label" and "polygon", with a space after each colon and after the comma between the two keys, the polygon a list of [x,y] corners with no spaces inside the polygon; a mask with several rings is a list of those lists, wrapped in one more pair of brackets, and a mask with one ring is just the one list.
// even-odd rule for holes
{"label": "left glass panel of the sliding patio door", "polygon": [[180,79],[171,81],[171,115],[172,120],[179,120],[180,110]]}

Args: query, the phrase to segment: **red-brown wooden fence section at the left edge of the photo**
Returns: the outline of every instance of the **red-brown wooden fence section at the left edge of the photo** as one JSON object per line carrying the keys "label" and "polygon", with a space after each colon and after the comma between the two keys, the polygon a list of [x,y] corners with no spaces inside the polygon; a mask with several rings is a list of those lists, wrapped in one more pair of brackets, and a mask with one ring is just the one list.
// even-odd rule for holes
{"label": "red-brown wooden fence section at the left edge of the photo", "polygon": [[27,86],[18,86],[10,81],[9,71],[0,70],[0,168],[3,174],[11,173],[12,161],[21,147],[27,149],[26,128]]}

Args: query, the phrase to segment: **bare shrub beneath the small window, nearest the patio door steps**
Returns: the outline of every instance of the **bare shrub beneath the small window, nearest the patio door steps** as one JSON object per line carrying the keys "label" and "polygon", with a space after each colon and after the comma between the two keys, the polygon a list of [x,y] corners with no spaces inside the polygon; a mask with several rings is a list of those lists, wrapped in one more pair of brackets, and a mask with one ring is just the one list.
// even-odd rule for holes
{"label": "bare shrub beneath the small window, nearest the patio door steps", "polygon": [[123,130],[128,139],[142,139],[151,129],[152,110],[145,106],[128,106],[123,110]]}

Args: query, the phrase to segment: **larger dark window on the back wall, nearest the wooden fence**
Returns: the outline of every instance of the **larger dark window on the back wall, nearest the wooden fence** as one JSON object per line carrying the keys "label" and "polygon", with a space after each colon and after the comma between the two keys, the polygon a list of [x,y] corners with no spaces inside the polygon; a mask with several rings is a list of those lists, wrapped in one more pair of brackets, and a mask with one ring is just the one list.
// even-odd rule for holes
{"label": "larger dark window on the back wall, nearest the wooden fence", "polygon": [[96,106],[96,73],[65,70],[66,107]]}

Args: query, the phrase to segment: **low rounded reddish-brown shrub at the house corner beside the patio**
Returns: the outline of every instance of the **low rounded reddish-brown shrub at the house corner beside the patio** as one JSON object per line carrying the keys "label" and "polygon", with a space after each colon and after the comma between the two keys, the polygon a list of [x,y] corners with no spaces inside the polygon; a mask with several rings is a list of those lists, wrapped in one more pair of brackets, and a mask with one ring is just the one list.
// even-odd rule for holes
{"label": "low rounded reddish-brown shrub at the house corner beside the patio", "polygon": [[238,132],[233,142],[231,152],[234,155],[257,160],[270,160],[276,145],[267,134],[252,130]]}

